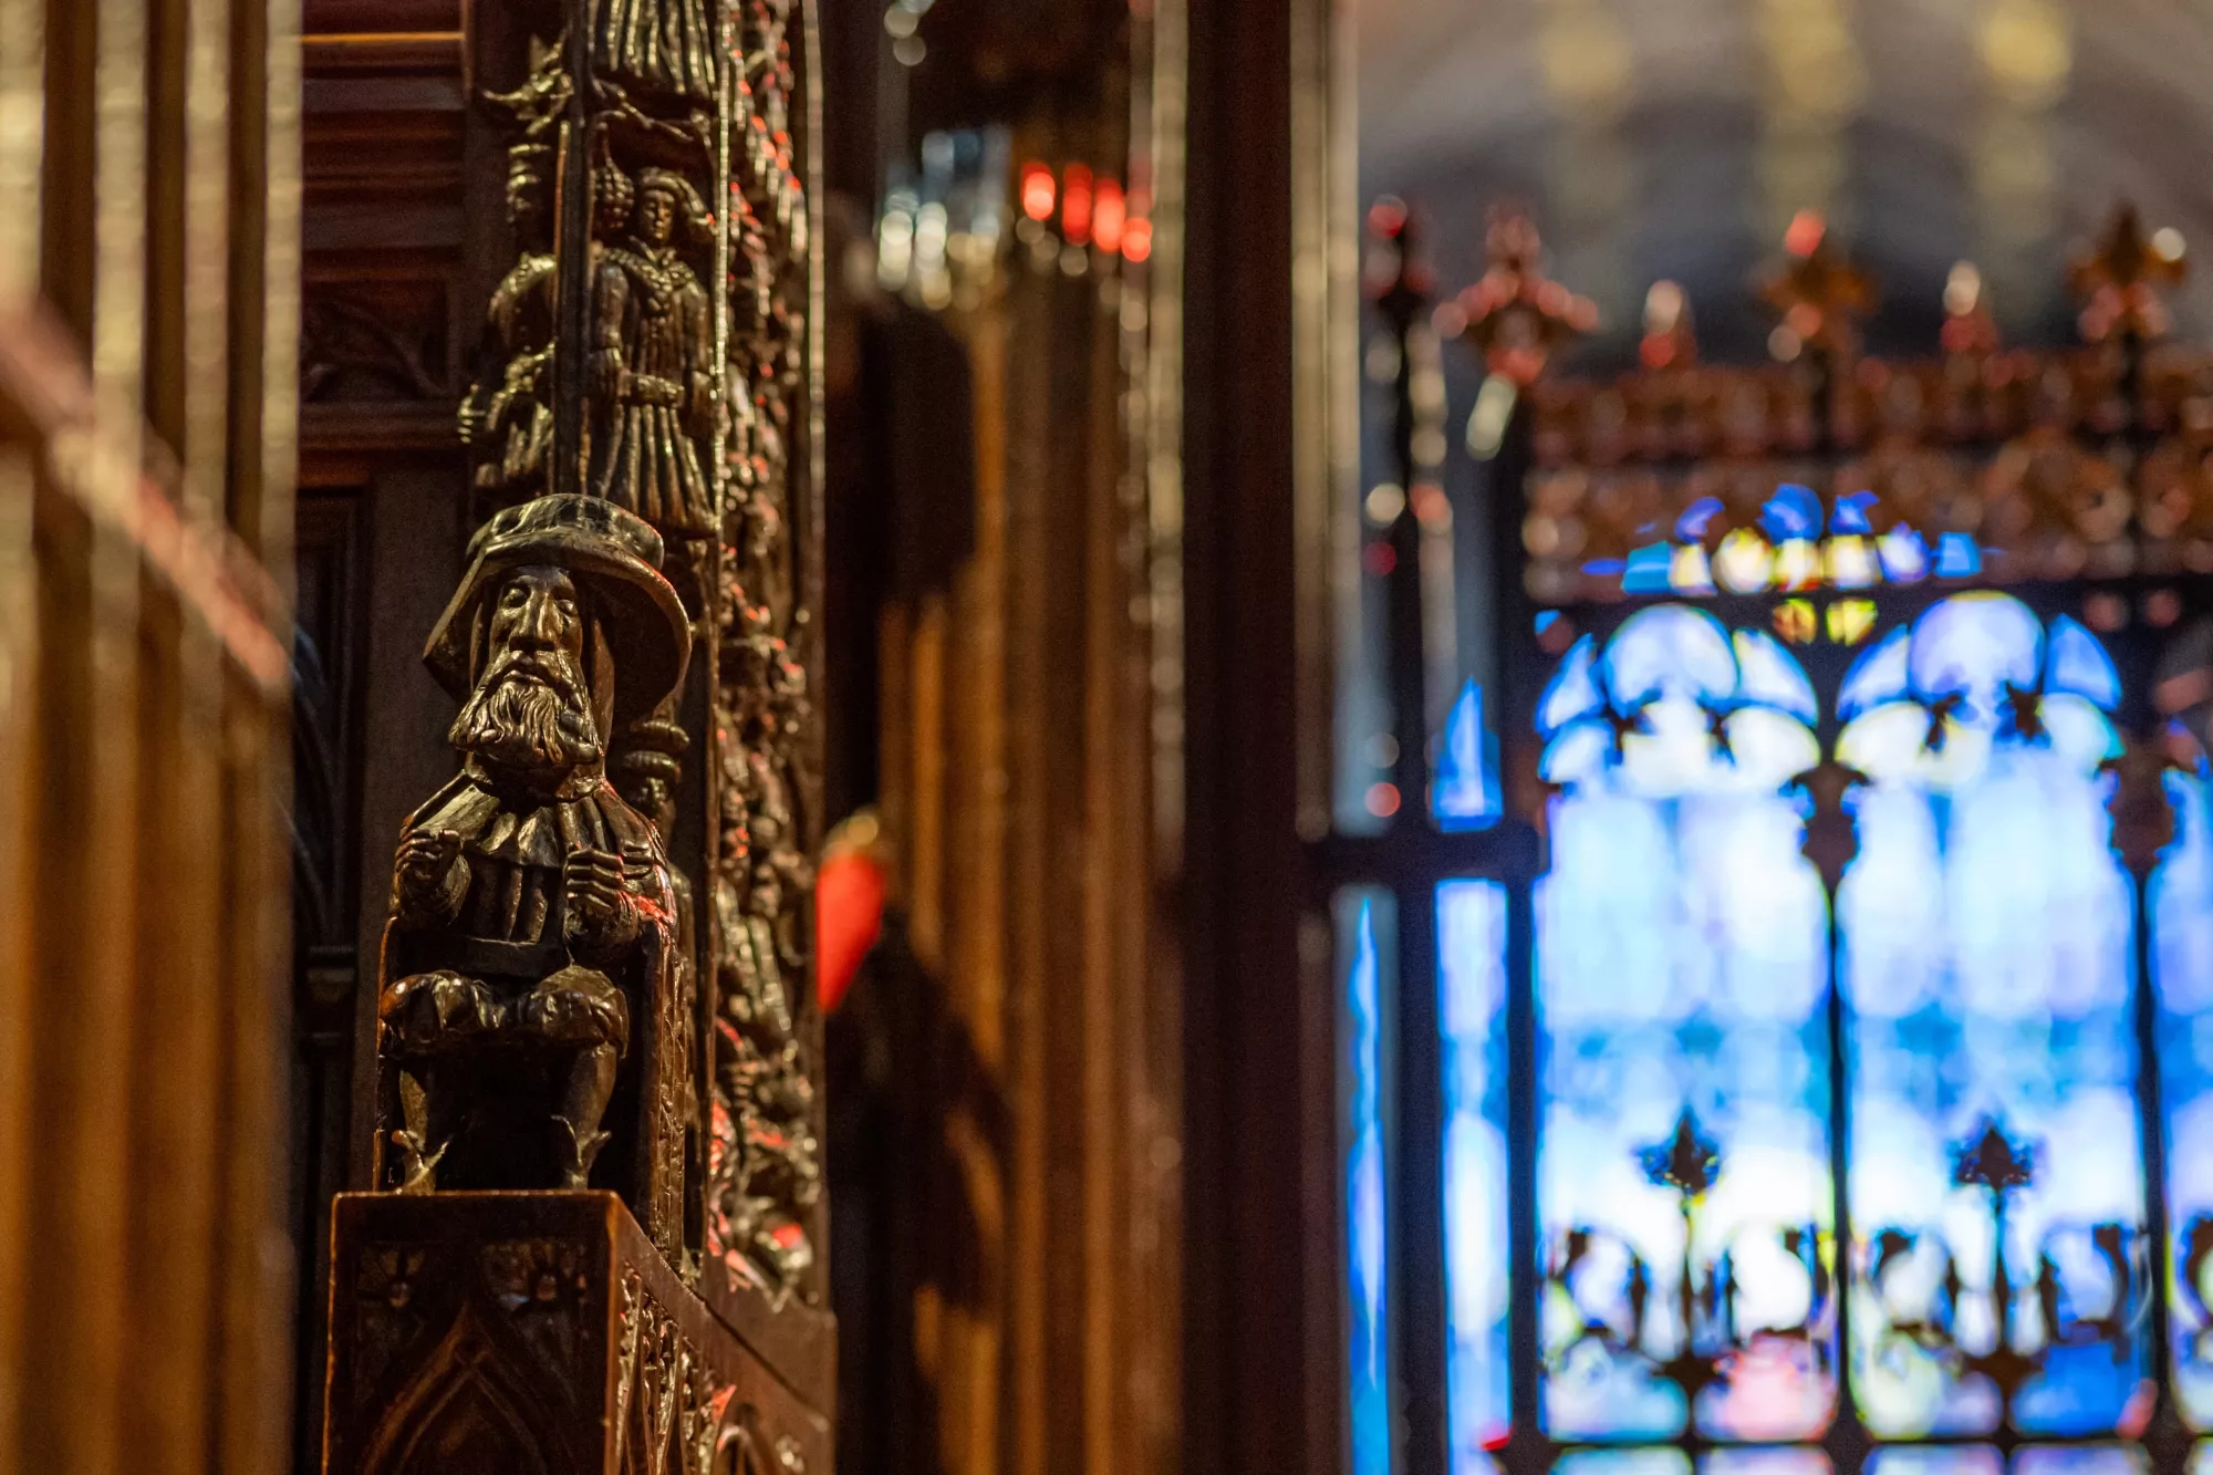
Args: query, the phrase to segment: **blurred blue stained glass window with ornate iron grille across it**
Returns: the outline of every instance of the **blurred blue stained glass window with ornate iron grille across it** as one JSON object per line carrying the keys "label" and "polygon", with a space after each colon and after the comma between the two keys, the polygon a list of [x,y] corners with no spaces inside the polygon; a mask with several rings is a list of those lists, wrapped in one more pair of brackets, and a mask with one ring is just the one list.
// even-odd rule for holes
{"label": "blurred blue stained glass window with ornate iron grille across it", "polygon": [[[1534,352],[1529,264],[1430,323]],[[1383,731],[1317,848],[1354,1468],[2213,1468],[2213,357],[1485,352],[1496,658],[1401,649],[1436,527],[1363,505]]]}

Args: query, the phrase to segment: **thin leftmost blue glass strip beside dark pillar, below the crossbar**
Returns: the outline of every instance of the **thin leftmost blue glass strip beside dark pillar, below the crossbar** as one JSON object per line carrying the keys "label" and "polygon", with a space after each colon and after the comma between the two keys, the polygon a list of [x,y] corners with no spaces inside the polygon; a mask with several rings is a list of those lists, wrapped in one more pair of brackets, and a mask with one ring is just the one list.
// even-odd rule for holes
{"label": "thin leftmost blue glass strip beside dark pillar, below the crossbar", "polygon": [[1348,1424],[1352,1475],[1390,1475],[1390,1262],[1383,1223],[1383,955],[1376,912],[1390,899],[1346,890],[1337,897],[1337,952],[1346,979],[1346,1258],[1348,1258]]}

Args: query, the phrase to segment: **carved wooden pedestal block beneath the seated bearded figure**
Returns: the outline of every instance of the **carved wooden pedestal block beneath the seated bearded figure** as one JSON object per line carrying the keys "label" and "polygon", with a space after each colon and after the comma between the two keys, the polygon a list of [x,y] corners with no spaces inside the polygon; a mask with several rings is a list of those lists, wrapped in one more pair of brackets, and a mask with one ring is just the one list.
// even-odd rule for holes
{"label": "carved wooden pedestal block beneath the seated bearded figure", "polygon": [[325,1475],[830,1475],[615,1194],[343,1194]]}

